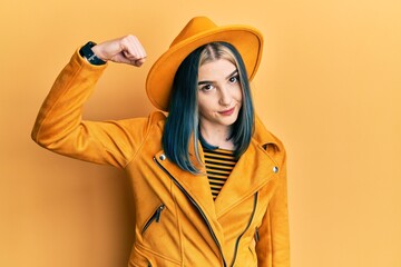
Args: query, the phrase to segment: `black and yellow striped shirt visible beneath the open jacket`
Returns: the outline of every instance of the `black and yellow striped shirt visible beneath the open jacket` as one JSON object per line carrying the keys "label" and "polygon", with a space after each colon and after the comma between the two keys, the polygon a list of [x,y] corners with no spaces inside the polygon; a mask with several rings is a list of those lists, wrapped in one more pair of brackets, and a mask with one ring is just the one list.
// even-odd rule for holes
{"label": "black and yellow striped shirt visible beneath the open jacket", "polygon": [[219,148],[212,150],[204,147],[204,155],[206,174],[215,200],[234,169],[237,159],[234,157],[234,151]]}

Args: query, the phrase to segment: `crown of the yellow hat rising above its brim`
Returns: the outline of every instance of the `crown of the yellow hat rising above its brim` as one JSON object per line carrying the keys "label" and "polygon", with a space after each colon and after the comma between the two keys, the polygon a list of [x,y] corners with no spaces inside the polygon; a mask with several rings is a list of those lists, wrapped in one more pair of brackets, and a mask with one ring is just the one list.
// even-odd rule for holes
{"label": "crown of the yellow hat rising above its brim", "polygon": [[213,30],[215,28],[217,28],[217,26],[207,17],[195,17],[189,20],[189,22],[184,27],[179,34],[174,39],[170,48],[193,36],[208,30]]}

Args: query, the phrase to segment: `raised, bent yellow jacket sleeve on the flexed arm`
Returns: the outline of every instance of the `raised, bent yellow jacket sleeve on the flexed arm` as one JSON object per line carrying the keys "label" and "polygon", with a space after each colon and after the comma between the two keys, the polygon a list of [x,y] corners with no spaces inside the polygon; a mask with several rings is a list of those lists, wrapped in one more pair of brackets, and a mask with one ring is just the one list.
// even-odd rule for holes
{"label": "raised, bent yellow jacket sleeve on the flexed arm", "polygon": [[[124,168],[146,134],[145,118],[85,121],[82,106],[107,65],[94,66],[76,51],[42,103],[31,137],[68,157]],[[135,130],[133,130],[135,129]]]}

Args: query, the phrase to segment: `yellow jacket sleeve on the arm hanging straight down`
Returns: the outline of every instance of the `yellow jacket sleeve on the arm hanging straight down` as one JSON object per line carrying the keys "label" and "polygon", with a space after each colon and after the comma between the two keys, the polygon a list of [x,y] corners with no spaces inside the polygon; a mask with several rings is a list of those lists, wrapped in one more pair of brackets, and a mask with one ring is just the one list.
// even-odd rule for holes
{"label": "yellow jacket sleeve on the arm hanging straight down", "polygon": [[284,151],[276,189],[272,196],[256,244],[258,267],[290,267],[286,156]]}

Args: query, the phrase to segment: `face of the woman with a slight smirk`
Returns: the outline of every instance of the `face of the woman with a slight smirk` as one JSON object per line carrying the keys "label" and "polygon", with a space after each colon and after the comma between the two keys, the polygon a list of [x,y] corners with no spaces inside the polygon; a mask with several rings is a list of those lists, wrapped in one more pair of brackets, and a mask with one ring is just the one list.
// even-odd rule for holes
{"label": "face of the woman with a slight smirk", "polygon": [[199,123],[204,129],[229,129],[242,106],[238,70],[226,59],[207,62],[198,70]]}

